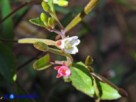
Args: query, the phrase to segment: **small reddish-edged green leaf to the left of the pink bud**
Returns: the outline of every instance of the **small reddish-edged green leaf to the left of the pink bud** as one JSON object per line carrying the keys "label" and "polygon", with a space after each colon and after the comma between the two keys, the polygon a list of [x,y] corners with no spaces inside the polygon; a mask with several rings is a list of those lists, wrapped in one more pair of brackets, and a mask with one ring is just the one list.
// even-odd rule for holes
{"label": "small reddish-edged green leaf to the left of the pink bud", "polygon": [[36,60],[33,64],[33,68],[35,70],[44,70],[51,66],[50,64],[50,56],[49,54],[41,57],[40,59]]}

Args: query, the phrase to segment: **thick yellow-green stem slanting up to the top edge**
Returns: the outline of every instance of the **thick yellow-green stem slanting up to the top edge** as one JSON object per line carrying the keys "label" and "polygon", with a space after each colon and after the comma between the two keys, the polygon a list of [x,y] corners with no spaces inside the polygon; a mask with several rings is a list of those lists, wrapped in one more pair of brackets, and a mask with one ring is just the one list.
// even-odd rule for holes
{"label": "thick yellow-green stem slanting up to the top edge", "polygon": [[99,0],[90,0],[90,2],[85,6],[84,10],[77,14],[77,16],[66,26],[65,31],[68,32],[73,27],[75,27],[81,20],[96,6]]}

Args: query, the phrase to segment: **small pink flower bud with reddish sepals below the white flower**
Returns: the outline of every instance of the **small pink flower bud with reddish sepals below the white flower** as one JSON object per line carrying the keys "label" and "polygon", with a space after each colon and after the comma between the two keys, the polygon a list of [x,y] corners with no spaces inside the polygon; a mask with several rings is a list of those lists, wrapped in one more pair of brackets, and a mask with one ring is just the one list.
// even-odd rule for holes
{"label": "small pink flower bud with reddish sepals below the white flower", "polygon": [[69,77],[71,74],[70,69],[67,66],[65,66],[64,64],[62,66],[56,66],[54,69],[58,71],[58,74],[56,76],[57,78]]}

